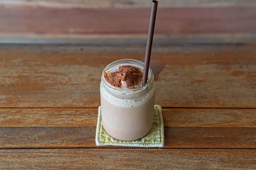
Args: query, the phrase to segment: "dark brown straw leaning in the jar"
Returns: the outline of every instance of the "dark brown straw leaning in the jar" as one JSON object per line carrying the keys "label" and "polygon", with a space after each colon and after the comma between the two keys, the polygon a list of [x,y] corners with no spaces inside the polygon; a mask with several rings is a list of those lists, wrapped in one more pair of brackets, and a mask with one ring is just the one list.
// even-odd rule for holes
{"label": "dark brown straw leaning in the jar", "polygon": [[147,47],[146,47],[146,54],[145,54],[145,61],[144,61],[142,85],[145,85],[148,81],[148,69],[149,69],[149,62],[150,62],[153,35],[154,35],[154,25],[155,25],[156,16],[157,16],[157,3],[158,2],[156,0],[152,1],[149,28],[148,28],[148,40],[147,40]]}

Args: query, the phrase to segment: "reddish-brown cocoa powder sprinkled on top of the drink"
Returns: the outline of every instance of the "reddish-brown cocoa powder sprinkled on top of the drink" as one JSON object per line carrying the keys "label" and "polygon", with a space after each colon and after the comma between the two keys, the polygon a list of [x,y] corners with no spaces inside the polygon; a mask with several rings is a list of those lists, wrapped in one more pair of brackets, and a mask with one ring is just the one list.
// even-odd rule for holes
{"label": "reddish-brown cocoa powder sprinkled on top of the drink", "polygon": [[[135,89],[142,81],[143,72],[139,67],[131,65],[119,66],[114,72],[105,72],[104,77],[106,81],[112,86],[123,89]],[[125,82],[126,86],[122,84]]]}

